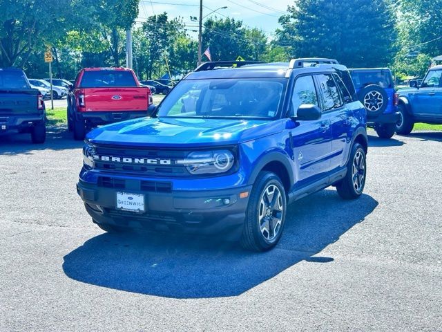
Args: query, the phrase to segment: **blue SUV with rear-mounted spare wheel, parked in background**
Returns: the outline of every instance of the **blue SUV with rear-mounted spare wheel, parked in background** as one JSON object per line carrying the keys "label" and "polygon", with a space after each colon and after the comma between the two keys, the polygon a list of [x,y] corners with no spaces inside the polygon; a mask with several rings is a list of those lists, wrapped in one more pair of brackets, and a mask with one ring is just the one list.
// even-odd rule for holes
{"label": "blue SUV with rear-mounted spare wheel, parked in background", "polygon": [[398,121],[398,95],[389,68],[352,68],[358,99],[367,109],[367,126],[381,138],[392,138]]}

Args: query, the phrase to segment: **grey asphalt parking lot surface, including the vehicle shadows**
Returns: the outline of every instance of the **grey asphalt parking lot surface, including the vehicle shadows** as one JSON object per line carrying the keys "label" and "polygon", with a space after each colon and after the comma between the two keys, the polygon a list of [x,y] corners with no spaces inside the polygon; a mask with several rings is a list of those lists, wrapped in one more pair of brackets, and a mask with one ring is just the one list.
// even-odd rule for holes
{"label": "grey asphalt parking lot surface, including the vehicle shadows", "polygon": [[276,249],[112,235],[75,183],[81,142],[0,140],[0,331],[442,331],[442,132],[369,136],[358,201],[290,206]]}

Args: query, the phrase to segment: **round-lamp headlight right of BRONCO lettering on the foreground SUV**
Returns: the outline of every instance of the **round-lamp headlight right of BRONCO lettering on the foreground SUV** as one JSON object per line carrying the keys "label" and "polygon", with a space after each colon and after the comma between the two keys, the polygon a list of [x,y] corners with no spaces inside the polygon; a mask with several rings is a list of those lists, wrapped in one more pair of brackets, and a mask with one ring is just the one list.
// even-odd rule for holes
{"label": "round-lamp headlight right of BRONCO lettering on the foreground SUV", "polygon": [[191,174],[218,174],[229,171],[235,158],[229,150],[194,151],[184,160],[177,160],[180,165],[186,166]]}

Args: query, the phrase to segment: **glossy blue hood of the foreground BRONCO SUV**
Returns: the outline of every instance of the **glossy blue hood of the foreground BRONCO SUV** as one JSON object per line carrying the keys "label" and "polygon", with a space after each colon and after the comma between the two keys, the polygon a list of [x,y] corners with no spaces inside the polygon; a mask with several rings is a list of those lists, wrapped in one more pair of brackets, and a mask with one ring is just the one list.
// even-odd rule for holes
{"label": "glossy blue hood of the foreground BRONCO SUV", "polygon": [[97,144],[131,146],[231,145],[281,131],[280,120],[140,118],[108,124],[88,133]]}

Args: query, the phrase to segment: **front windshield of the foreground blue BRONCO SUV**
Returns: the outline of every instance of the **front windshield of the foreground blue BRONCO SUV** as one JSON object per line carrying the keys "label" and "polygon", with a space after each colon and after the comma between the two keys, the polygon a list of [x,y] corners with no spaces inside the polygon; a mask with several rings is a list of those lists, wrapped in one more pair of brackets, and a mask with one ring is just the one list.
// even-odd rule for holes
{"label": "front windshield of the foreground blue BRONCO SUV", "polygon": [[280,107],[284,79],[184,80],[167,95],[159,117],[273,118]]}

